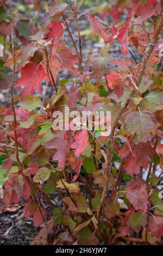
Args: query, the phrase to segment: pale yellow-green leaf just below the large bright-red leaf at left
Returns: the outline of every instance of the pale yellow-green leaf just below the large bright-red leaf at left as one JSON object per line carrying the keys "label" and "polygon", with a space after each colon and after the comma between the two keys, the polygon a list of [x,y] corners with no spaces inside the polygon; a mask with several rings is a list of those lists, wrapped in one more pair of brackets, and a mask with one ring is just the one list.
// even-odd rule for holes
{"label": "pale yellow-green leaf just below the large bright-red leaf at left", "polygon": [[33,111],[35,108],[43,107],[42,102],[38,96],[25,95],[24,99],[18,104],[23,109]]}

